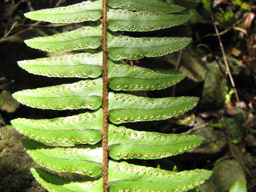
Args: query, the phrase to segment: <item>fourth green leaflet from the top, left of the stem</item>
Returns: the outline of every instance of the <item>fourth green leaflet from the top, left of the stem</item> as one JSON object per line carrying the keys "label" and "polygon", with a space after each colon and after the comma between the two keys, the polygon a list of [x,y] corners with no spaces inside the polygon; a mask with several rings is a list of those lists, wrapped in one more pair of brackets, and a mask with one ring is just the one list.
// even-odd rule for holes
{"label": "fourth green leaflet from the top, left of the stem", "polygon": [[39,109],[98,109],[101,106],[102,78],[73,84],[18,91],[13,98]]}

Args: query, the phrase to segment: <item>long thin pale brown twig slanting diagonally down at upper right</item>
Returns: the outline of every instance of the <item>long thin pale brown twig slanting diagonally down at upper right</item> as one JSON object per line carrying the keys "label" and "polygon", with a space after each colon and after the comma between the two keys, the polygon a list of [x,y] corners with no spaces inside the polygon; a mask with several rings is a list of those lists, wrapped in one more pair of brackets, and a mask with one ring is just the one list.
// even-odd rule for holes
{"label": "long thin pale brown twig slanting diagonally down at upper right", "polygon": [[[214,17],[213,17],[212,11],[211,11],[211,18],[212,18],[212,21],[214,21]],[[218,37],[218,41],[219,41],[219,44],[220,44],[220,49],[221,49],[221,52],[222,52],[223,60],[224,60],[225,66],[226,66],[226,71],[227,71],[227,73],[228,73],[228,76],[229,76],[231,85],[232,85],[232,87],[233,87],[233,89],[234,89],[234,92],[235,92],[236,101],[237,101],[237,102],[240,102],[240,99],[239,99],[239,97],[238,97],[238,93],[237,93],[237,90],[236,90],[236,85],[235,85],[233,76],[232,76],[232,74],[231,74],[231,71],[230,71],[230,69],[229,69],[229,65],[228,65],[226,53],[225,53],[225,50],[224,50],[224,47],[223,47],[223,44],[222,44],[222,41],[221,41],[221,38],[220,38],[219,29],[218,29],[217,25],[213,24],[213,26],[214,26],[215,32],[216,32],[216,34],[217,34],[217,37]]]}

